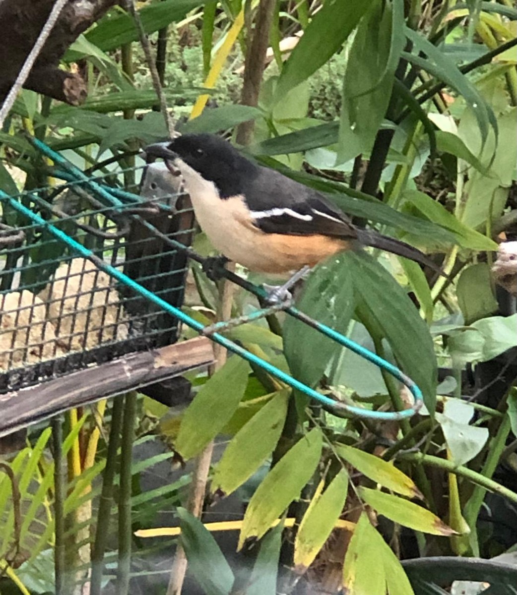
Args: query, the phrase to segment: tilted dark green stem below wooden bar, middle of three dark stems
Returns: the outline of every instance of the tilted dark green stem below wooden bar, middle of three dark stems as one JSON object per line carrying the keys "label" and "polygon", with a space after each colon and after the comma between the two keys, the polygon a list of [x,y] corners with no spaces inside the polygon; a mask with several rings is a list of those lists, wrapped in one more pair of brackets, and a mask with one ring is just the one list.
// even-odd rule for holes
{"label": "tilted dark green stem below wooden bar, middle of three dark stems", "polygon": [[108,439],[106,466],[102,474],[102,490],[97,513],[97,530],[92,548],[92,578],[90,595],[101,595],[102,570],[104,552],[108,541],[107,527],[110,526],[111,502],[113,500],[113,481],[117,469],[117,455],[120,444],[120,430],[124,412],[124,397],[118,396],[113,400],[111,408],[111,427]]}

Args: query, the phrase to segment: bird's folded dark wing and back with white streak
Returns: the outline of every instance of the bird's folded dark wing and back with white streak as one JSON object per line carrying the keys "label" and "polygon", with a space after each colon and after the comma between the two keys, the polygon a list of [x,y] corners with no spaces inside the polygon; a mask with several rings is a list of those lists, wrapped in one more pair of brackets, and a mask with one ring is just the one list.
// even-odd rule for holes
{"label": "bird's folded dark wing and back with white streak", "polygon": [[258,167],[244,196],[253,223],[266,233],[357,237],[348,217],[323,195],[278,171]]}

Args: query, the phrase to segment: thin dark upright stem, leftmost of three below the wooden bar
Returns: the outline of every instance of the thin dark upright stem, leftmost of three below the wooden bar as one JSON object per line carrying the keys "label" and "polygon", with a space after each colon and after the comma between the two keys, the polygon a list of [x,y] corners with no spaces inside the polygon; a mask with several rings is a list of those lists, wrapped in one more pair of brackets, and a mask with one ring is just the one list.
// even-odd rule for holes
{"label": "thin dark upright stem, leftmost of three below the wooden bar", "polygon": [[63,578],[66,569],[66,549],[64,541],[64,501],[66,478],[63,458],[63,419],[58,415],[52,418],[52,447],[54,454],[54,581],[55,595],[63,595]]}

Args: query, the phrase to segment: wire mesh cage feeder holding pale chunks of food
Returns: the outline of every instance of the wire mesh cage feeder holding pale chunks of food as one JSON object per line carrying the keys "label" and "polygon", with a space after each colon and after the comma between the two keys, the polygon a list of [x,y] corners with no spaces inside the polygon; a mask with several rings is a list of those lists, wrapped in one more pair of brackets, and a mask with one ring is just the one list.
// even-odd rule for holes
{"label": "wire mesh cage feeder holding pale chunks of food", "polygon": [[[141,178],[139,201],[123,189],[127,171],[95,178],[119,193],[119,208],[103,205],[77,181],[17,200],[95,258],[180,307],[186,256],[163,236],[189,245],[194,215],[188,196],[161,165],[131,171]],[[48,228],[1,204],[0,393],[176,342],[176,318],[77,256]]]}

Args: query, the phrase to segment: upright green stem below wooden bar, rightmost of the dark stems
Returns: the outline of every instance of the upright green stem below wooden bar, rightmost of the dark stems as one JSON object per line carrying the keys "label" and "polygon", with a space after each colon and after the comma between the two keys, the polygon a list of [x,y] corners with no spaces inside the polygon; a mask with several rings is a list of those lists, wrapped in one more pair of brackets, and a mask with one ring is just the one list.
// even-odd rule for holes
{"label": "upright green stem below wooden bar, rightmost of the dark stems", "polygon": [[136,391],[126,393],[120,441],[119,489],[119,560],[117,568],[117,595],[129,594],[131,568],[131,479],[133,439],[135,436]]}

